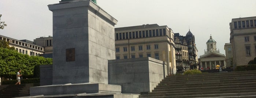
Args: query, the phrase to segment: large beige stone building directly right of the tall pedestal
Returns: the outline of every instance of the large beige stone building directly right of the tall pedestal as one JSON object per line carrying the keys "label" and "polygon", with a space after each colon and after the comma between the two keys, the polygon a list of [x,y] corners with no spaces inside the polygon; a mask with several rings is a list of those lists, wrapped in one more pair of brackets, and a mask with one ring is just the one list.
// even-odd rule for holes
{"label": "large beige stone building directly right of the tall pedestal", "polygon": [[152,57],[166,61],[176,73],[174,33],[167,26],[144,24],[115,28],[116,59]]}

